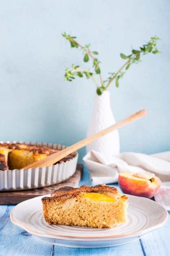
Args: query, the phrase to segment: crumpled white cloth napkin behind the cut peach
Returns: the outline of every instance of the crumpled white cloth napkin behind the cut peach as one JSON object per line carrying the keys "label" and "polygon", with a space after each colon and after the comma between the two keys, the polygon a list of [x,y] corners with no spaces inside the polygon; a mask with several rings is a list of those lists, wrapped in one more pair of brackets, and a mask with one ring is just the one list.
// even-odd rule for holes
{"label": "crumpled white cloth napkin behind the cut peach", "polygon": [[155,200],[170,209],[170,151],[153,155],[127,152],[113,156],[90,150],[83,160],[90,173],[92,185],[118,182],[119,173],[122,171],[152,173],[158,176],[162,186]]}

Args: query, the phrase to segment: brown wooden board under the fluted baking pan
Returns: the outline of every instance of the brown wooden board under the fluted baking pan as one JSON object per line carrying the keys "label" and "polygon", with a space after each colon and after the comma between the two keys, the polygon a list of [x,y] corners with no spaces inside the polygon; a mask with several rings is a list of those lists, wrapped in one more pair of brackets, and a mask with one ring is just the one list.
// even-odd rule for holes
{"label": "brown wooden board under the fluted baking pan", "polygon": [[40,189],[30,189],[24,191],[7,191],[0,192],[0,205],[16,205],[22,201],[25,201],[30,198],[34,198],[39,195],[47,195],[52,193],[54,190],[59,189],[63,186],[73,186],[78,187],[79,181],[81,180],[83,174],[83,165],[77,164],[77,168],[73,176],[64,182],[55,184],[53,186],[46,186]]}

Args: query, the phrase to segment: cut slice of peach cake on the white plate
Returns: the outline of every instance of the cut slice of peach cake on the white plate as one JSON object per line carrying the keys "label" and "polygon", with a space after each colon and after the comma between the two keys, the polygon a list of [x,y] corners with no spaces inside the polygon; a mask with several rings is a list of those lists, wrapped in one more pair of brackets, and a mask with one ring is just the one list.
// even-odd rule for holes
{"label": "cut slice of peach cake on the white plate", "polygon": [[105,184],[64,187],[52,193],[51,197],[42,198],[44,218],[49,224],[91,228],[112,228],[125,223],[127,201],[126,195]]}

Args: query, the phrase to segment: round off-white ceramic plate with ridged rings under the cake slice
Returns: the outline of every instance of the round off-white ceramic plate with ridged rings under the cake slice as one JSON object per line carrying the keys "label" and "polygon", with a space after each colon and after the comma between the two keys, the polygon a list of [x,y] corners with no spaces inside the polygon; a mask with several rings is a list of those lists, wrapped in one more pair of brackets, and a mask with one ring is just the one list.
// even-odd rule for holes
{"label": "round off-white ceramic plate with ridged rings under the cake slice", "polygon": [[[50,195],[46,195],[50,196]],[[161,227],[168,212],[160,204],[142,197],[128,195],[128,221],[112,229],[95,229],[64,225],[49,225],[42,212],[39,196],[21,202],[10,213],[13,224],[36,239],[52,245],[74,248],[102,248],[124,245]]]}

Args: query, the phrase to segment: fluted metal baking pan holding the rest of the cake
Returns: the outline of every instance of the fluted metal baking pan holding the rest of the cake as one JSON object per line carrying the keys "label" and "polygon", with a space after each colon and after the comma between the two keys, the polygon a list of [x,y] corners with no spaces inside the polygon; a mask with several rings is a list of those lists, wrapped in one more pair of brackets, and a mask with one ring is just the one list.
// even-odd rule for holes
{"label": "fluted metal baking pan holding the rest of the cake", "polygon": [[[11,143],[10,141],[6,141]],[[22,142],[24,144],[47,146],[49,148],[62,150],[66,146],[52,144],[52,143],[41,143],[41,142]],[[3,141],[0,141],[3,143]],[[12,141],[16,143],[16,141]],[[51,166],[44,166],[38,168],[27,169],[15,169],[15,170],[0,170],[0,191],[20,191],[28,189],[37,189],[45,186],[52,186],[58,184],[70,178],[76,171],[78,153],[73,152],[73,159],[62,162],[61,164],[55,164]]]}

